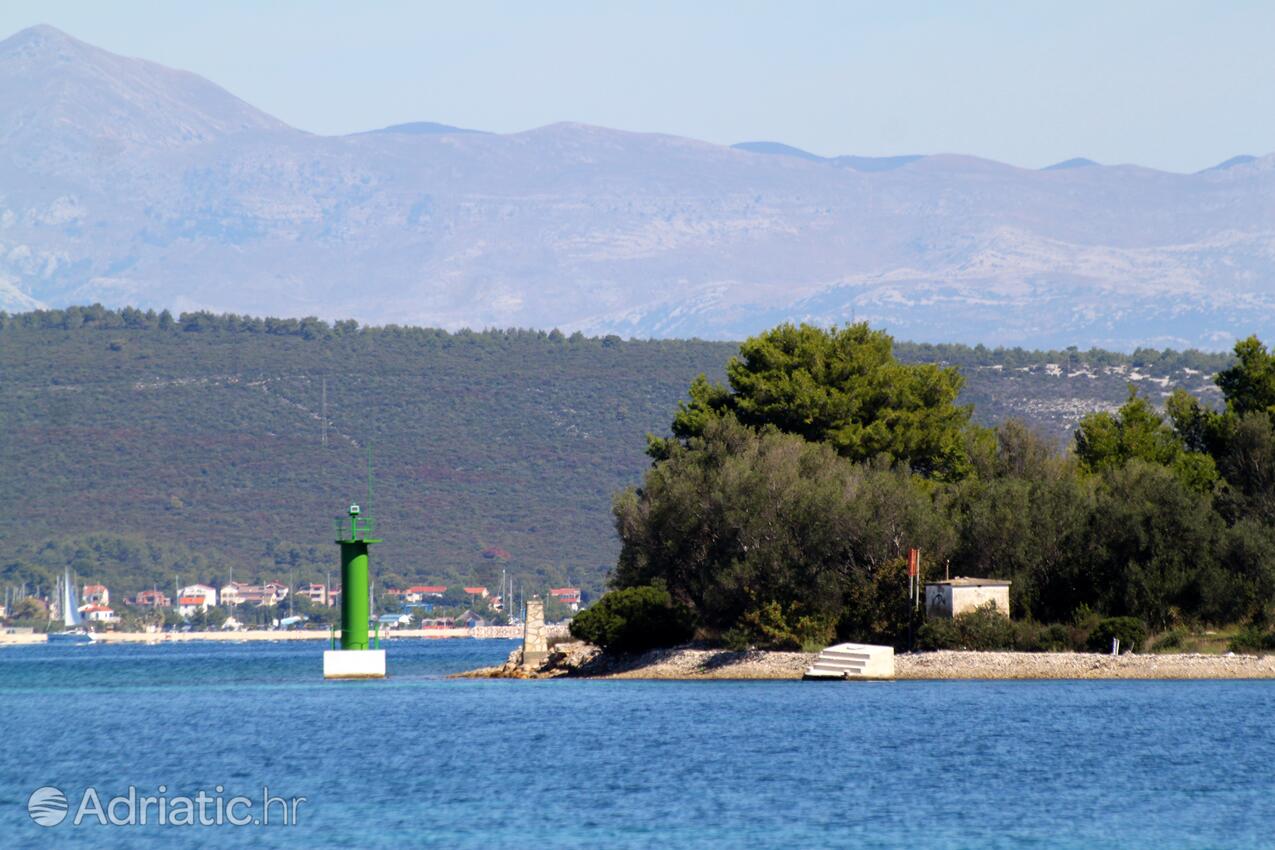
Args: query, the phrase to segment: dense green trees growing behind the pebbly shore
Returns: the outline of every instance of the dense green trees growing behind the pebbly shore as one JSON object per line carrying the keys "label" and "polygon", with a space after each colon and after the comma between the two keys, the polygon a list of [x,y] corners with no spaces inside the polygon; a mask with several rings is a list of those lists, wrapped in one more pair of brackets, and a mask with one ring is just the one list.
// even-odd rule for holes
{"label": "dense green trees growing behind the pebbly shore", "polygon": [[[951,367],[901,363],[866,325],[747,340],[696,378],[640,488],[615,500],[611,584],[655,586],[709,637],[907,645],[907,552],[924,575],[1011,579],[1016,618],[1265,628],[1275,594],[1275,357],[1218,373],[1225,405],[1130,391],[1060,452],[972,423]],[[615,607],[613,607],[615,608]],[[588,618],[583,628],[589,628]],[[1009,640],[1009,638],[1007,638]]]}

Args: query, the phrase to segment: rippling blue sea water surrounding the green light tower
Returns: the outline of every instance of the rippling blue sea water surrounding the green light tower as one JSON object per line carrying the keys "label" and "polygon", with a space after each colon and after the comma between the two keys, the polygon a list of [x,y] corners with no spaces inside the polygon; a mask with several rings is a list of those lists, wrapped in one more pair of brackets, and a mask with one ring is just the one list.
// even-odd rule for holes
{"label": "rippling blue sea water surrounding the green light tower", "polygon": [[[319,642],[0,650],[0,847],[1275,846],[1275,683],[445,678],[511,647],[394,642],[382,682]],[[306,799],[71,823],[130,785]]]}

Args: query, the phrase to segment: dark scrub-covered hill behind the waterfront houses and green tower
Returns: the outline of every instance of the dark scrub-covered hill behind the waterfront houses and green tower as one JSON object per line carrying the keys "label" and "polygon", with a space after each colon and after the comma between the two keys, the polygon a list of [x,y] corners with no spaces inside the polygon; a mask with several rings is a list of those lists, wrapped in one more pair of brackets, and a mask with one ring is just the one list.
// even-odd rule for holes
{"label": "dark scrub-covered hill behind the waterfront houses and green tower", "polygon": [[[611,497],[640,480],[691,378],[733,343],[360,328],[101,307],[0,313],[0,584],[66,565],[129,593],[182,580],[321,580],[332,517],[366,501],[381,581],[601,589]],[[966,375],[975,418],[1062,436],[1193,393],[1228,356],[900,344]],[[326,405],[324,395],[326,394]],[[324,428],[326,410],[326,428]],[[326,432],[326,442],[324,433]]]}

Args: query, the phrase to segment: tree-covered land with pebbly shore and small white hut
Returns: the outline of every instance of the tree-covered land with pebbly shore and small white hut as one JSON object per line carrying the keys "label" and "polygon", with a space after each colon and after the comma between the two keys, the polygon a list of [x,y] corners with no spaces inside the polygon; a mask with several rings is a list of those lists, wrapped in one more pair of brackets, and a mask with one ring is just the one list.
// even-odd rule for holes
{"label": "tree-covered land with pebbly shore and small white hut", "polygon": [[[615,498],[576,644],[478,675],[799,678],[841,641],[896,678],[1267,678],[1275,356],[1220,403],[1131,385],[1060,446],[867,325],[782,325],[704,376]],[[964,579],[963,576],[978,576]]]}

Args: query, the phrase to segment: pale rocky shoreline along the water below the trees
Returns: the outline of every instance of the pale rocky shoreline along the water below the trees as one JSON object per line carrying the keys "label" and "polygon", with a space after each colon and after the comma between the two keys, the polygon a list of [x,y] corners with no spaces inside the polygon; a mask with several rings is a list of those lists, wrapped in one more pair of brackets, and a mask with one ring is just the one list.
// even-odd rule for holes
{"label": "pale rocky shoreline along the water below the trees", "polygon": [[[608,656],[586,644],[560,644],[543,665],[523,669],[515,650],[501,666],[463,678],[799,679],[812,652],[743,651],[681,646]],[[1275,656],[1098,655],[1089,652],[903,652],[896,679],[1271,679]]]}

